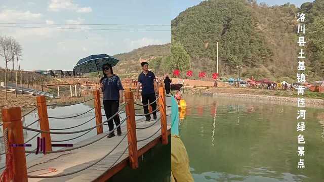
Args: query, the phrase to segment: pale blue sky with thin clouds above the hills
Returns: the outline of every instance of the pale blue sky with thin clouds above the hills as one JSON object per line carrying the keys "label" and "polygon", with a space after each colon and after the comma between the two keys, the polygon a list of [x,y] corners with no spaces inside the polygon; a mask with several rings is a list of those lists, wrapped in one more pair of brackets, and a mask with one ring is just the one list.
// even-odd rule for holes
{"label": "pale blue sky with thin clouds above the hills", "polygon": [[[23,47],[24,70],[72,70],[76,62],[91,54],[114,55],[171,41],[171,20],[199,0],[2,0],[0,35],[13,36]],[[263,1],[268,5],[291,2]],[[68,23],[74,25],[10,25],[3,23]],[[75,25],[76,24],[76,25]],[[80,25],[81,24],[81,25]],[[162,24],[167,26],[98,26],[82,24]],[[99,29],[146,29],[158,31],[107,31],[12,28],[34,26]],[[163,31],[159,31],[163,30]],[[4,67],[0,58],[0,66]],[[9,65],[11,68],[12,66]]]}

